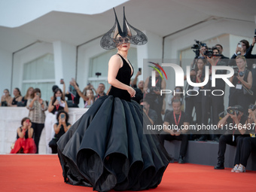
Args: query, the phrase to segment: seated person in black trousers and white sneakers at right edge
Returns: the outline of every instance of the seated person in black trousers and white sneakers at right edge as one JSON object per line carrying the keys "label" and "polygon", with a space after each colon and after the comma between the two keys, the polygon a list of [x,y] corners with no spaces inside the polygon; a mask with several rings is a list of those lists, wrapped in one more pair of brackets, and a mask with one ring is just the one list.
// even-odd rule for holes
{"label": "seated person in black trousers and white sneakers at right edge", "polygon": [[[245,167],[247,165],[248,157],[251,154],[251,150],[256,149],[256,137],[255,137],[255,123],[256,123],[256,113],[255,105],[250,105],[248,109],[248,120],[246,122],[246,129],[248,130],[249,136],[242,137],[238,140],[236,145],[236,157],[234,161],[234,168],[231,172],[245,172]],[[246,129],[242,129],[243,133]]]}

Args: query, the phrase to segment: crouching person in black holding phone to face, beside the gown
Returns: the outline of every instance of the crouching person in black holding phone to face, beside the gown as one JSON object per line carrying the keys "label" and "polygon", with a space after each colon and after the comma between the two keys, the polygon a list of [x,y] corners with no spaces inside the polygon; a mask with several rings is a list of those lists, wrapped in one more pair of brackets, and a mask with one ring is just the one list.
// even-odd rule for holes
{"label": "crouching person in black holding phone to face, beside the gown", "polygon": [[53,125],[55,135],[53,139],[49,142],[49,147],[52,149],[53,154],[56,154],[58,152],[57,142],[59,141],[59,138],[64,135],[64,133],[66,133],[71,126],[71,124],[68,122],[69,114],[66,113],[66,111],[59,111],[56,115],[56,120],[57,123]]}

